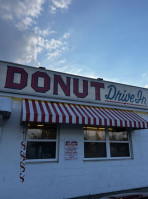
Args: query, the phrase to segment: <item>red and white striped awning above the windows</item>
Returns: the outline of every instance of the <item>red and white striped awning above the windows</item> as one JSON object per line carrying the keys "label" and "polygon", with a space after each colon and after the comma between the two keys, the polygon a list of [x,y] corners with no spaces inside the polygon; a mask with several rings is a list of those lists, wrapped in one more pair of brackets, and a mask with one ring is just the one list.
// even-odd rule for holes
{"label": "red and white striped awning above the windows", "polygon": [[35,100],[23,100],[22,122],[148,128],[133,111]]}

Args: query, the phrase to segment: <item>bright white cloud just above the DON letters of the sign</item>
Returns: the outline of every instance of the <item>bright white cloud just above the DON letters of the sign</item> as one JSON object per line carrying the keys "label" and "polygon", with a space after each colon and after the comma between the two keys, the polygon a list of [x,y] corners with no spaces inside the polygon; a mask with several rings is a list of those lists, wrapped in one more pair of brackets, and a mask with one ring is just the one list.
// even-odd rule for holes
{"label": "bright white cloud just above the DON letters of the sign", "polygon": [[35,34],[24,35],[24,46],[21,46],[21,56],[16,58],[16,62],[22,64],[33,63],[39,65],[38,55],[44,51],[48,60],[57,60],[67,49],[66,42],[60,40],[47,40]]}

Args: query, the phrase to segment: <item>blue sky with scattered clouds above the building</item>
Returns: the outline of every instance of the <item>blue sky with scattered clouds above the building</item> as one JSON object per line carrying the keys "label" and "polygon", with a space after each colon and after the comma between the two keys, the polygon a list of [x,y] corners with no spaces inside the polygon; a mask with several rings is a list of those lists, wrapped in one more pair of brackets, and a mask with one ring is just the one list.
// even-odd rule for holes
{"label": "blue sky with scattered clouds above the building", "polygon": [[148,87],[148,0],[0,0],[0,59]]}

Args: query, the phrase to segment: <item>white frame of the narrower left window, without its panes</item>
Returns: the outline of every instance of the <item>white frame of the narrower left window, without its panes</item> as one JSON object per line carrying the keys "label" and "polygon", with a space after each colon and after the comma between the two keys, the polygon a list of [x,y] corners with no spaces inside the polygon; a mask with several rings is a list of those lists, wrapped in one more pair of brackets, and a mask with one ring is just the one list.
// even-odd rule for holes
{"label": "white frame of the narrower left window, without its panes", "polygon": [[[29,124],[29,123],[28,123]],[[36,124],[38,125],[38,124]],[[39,124],[40,125],[40,124]],[[44,124],[43,124],[44,125]],[[50,124],[49,124],[50,125]],[[53,125],[53,124],[51,124]],[[33,163],[33,162],[57,162],[59,159],[59,125],[56,125],[56,139],[27,139],[27,132],[28,132],[28,125],[26,128],[26,155],[27,155],[27,142],[56,142],[56,153],[55,153],[55,158],[52,159],[27,159],[26,158],[26,163]]]}

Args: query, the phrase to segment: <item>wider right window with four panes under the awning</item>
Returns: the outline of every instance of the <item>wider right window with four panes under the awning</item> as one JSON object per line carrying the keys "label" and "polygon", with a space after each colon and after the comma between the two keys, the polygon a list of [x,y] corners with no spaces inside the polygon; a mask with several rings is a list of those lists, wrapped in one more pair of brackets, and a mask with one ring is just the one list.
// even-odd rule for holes
{"label": "wider right window with four panes under the awning", "polygon": [[128,129],[84,127],[84,158],[131,157]]}

